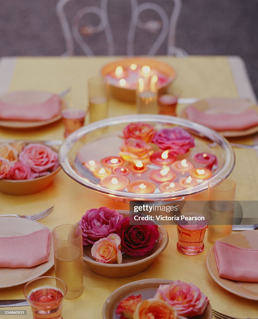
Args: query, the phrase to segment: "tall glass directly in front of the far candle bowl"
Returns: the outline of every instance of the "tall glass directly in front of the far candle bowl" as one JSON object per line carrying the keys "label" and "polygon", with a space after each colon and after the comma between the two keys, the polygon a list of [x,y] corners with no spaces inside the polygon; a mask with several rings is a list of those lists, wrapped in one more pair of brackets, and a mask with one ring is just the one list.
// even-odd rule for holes
{"label": "tall glass directly in front of the far candle bowl", "polygon": [[152,77],[141,77],[137,81],[136,106],[137,113],[157,114],[158,113],[158,88],[157,75]]}

